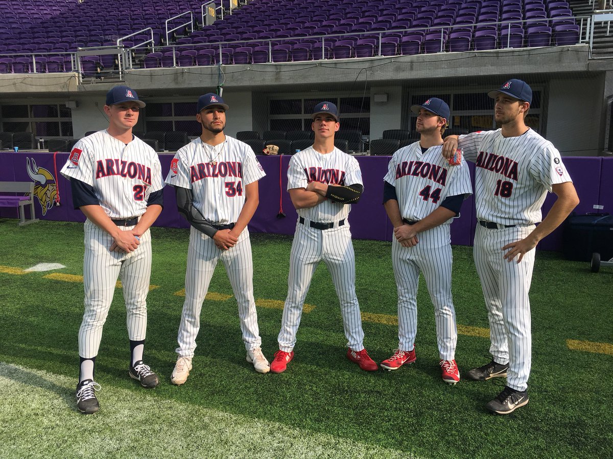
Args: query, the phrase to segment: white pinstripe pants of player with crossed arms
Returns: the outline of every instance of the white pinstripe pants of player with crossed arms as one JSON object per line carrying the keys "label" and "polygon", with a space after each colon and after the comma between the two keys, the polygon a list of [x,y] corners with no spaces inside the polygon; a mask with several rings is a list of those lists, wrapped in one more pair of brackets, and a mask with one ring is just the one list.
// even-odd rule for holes
{"label": "white pinstripe pants of player with crossed arms", "polygon": [[326,263],[337,292],[347,346],[361,351],[364,349],[364,330],[356,296],[356,258],[348,223],[330,230],[296,224],[289,256],[287,298],[278,336],[279,349],[285,352],[294,349],[302,307],[313,273],[321,260]]}

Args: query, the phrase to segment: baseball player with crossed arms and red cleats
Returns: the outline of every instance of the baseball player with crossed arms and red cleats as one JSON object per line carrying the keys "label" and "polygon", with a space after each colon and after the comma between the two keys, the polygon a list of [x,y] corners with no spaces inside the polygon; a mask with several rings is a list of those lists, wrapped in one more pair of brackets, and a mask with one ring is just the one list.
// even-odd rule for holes
{"label": "baseball player with crossed arms and red cleats", "polygon": [[289,161],[287,191],[298,211],[289,258],[287,298],[279,332],[279,350],[270,371],[281,373],[294,358],[296,332],[313,273],[322,259],[334,282],[343,315],[349,349],[347,357],[362,370],[377,364],[364,349],[360,305],[356,297],[356,260],[349,232],[350,203],[356,203],[364,185],[357,160],[334,146],[338,131],[337,106],[321,102],[311,116],[313,146],[297,152]]}

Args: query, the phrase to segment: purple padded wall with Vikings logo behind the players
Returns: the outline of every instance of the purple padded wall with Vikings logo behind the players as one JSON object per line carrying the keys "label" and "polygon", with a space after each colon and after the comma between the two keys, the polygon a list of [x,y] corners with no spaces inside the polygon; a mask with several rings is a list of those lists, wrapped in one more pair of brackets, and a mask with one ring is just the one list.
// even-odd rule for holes
{"label": "purple padded wall with Vikings logo behind the players", "polygon": [[[0,152],[0,181],[32,181],[31,173],[45,176],[47,182],[35,187],[36,216],[44,220],[61,220],[83,222],[82,212],[75,210],[70,196],[70,184],[59,174],[68,157],[67,153],[40,152]],[[170,168],[172,154],[160,155],[164,177]],[[249,231],[254,233],[294,234],[297,214],[292,206],[287,186],[287,164],[289,156],[258,156],[266,176],[259,182],[260,205],[249,224]],[[351,233],[356,239],[374,239],[390,241],[392,226],[381,202],[383,201],[383,176],[387,171],[387,156],[357,157],[364,179],[364,195],[359,203],[353,204],[349,223]],[[28,166],[29,163],[29,166]],[[593,212],[593,205],[604,206],[604,212],[613,213],[613,158],[601,157],[565,157],[568,168],[581,203],[575,209],[577,214]],[[471,165],[474,178],[474,167]],[[53,205],[55,192],[59,190],[60,206]],[[280,200],[285,218],[277,218]],[[543,214],[549,211],[555,201],[554,195],[548,195],[543,206]],[[156,226],[188,228],[188,223],[177,212],[172,187],[164,188],[164,211],[158,218]],[[451,242],[458,245],[471,245],[476,225],[474,217],[474,200],[470,198],[462,206],[460,217],[451,226]],[[0,217],[17,218],[17,209],[0,207]],[[562,250],[562,230],[554,231],[544,239],[538,248],[542,250]]]}

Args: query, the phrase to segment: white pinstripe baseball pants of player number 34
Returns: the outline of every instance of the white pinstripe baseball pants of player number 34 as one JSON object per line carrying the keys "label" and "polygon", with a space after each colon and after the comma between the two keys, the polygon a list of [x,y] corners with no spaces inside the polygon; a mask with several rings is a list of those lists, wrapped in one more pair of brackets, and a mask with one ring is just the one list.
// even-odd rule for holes
{"label": "white pinstripe baseball pants of player number 34", "polygon": [[213,272],[218,260],[226,267],[234,297],[238,303],[240,329],[248,351],[262,344],[257,326],[256,302],[253,297],[253,259],[247,228],[238,236],[237,244],[230,250],[221,250],[213,239],[193,226],[189,232],[188,266],[185,272],[185,303],[177,341],[177,354],[193,357],[196,337],[200,330],[202,302],[207,296]]}

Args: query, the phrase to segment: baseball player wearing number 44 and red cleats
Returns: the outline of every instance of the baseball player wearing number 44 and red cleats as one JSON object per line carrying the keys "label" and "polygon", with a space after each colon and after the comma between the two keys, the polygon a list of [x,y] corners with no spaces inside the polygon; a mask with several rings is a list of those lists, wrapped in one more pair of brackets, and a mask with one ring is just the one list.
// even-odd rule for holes
{"label": "baseball player wearing number 44 and red cleats", "polygon": [[394,225],[392,266],[398,287],[398,349],[381,367],[397,370],[412,364],[417,334],[417,286],[424,273],[436,317],[436,337],[443,381],[455,384],[457,329],[451,298],[451,233],[449,227],[460,206],[472,193],[465,162],[457,166],[441,155],[442,134],[449,106],[432,97],[411,106],[417,114],[421,140],[392,156],[384,177],[383,202]]}

